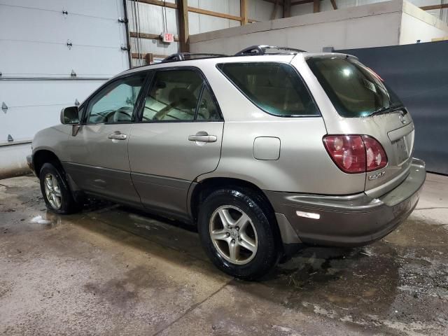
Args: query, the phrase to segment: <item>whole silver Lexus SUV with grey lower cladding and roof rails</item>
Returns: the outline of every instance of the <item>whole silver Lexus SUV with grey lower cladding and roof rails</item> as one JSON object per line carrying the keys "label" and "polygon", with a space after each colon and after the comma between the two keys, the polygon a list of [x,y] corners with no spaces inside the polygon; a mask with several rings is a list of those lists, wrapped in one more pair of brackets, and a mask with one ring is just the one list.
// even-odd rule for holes
{"label": "whole silver Lexus SUV with grey lower cladding and roof rails", "polygon": [[372,69],[265,45],[120,73],[32,147],[50,210],[91,195],[197,225],[209,258],[241,279],[300,244],[388,235],[426,177],[412,118]]}

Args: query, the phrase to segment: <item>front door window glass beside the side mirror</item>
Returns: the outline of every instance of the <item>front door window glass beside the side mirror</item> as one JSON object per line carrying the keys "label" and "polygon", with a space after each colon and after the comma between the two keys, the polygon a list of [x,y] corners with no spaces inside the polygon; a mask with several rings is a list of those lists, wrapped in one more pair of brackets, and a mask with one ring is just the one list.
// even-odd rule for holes
{"label": "front door window glass beside the side mirror", "polygon": [[123,78],[104,87],[89,102],[87,123],[130,123],[145,76]]}

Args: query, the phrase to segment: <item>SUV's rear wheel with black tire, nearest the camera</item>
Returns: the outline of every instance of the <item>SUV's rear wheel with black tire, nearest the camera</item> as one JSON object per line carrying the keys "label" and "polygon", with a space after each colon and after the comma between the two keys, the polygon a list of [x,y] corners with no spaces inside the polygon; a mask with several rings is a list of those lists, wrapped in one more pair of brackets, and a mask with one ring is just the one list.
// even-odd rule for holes
{"label": "SUV's rear wheel with black tire, nearest the camera", "polygon": [[246,188],[216,190],[201,204],[198,230],[212,262],[223,272],[253,280],[279,260],[267,204]]}

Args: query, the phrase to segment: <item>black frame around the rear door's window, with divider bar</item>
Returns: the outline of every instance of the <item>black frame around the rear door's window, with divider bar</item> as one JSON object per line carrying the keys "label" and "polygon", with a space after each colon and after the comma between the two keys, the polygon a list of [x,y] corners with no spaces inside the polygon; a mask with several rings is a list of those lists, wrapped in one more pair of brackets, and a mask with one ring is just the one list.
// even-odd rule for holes
{"label": "black frame around the rear door's window, with divider bar", "polygon": [[[195,116],[191,120],[142,120],[143,118],[143,111],[144,111],[144,104],[146,101],[146,97],[148,96],[148,92],[150,92],[151,88],[154,84],[154,78],[156,73],[162,72],[162,71],[179,71],[179,70],[193,70],[196,73],[199,74],[199,76],[202,78],[202,89],[200,92],[199,97],[197,97],[197,104],[195,109]],[[204,75],[204,73],[201,71],[200,68],[197,66],[167,66],[159,69],[151,69],[151,76],[148,76],[148,85],[144,87],[144,94],[141,95],[140,99],[141,102],[139,104],[139,110],[136,113],[136,118],[134,120],[134,123],[139,124],[154,124],[154,123],[222,123],[224,121],[223,113],[221,111],[221,107],[218,104],[218,99],[216,99],[216,96],[211,89],[211,85],[209,81],[207,80],[207,77]],[[197,120],[197,109],[199,107],[199,104],[201,102],[202,93],[204,92],[204,87],[207,86],[207,89],[211,93],[211,97],[214,99],[214,103],[216,105],[216,108],[218,109],[218,115],[220,119],[212,119],[212,120]]]}

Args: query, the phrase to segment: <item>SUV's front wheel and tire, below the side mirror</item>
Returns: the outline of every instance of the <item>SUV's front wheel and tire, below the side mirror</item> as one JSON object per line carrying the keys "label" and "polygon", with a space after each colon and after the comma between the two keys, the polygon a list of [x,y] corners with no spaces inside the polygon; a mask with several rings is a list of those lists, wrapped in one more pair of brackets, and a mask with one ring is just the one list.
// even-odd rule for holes
{"label": "SUV's front wheel and tire, below the side mirror", "polygon": [[73,214],[81,209],[65,179],[64,170],[55,162],[47,162],[39,173],[45,205],[56,214]]}

